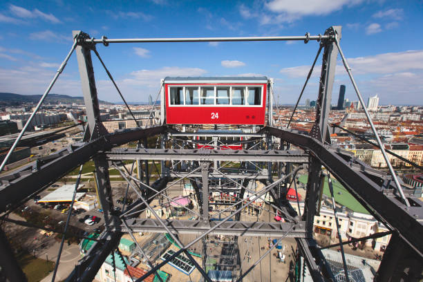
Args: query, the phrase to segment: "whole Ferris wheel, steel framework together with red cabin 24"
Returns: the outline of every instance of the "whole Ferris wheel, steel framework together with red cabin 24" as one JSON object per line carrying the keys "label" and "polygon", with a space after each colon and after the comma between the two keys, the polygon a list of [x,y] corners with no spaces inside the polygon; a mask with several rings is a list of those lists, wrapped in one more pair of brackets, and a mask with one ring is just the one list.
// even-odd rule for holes
{"label": "whole Ferris wheel, steel framework together with red cabin 24", "polygon": [[[118,247],[122,234],[129,233],[133,236],[134,232],[167,233],[181,247],[178,252],[168,254],[162,263],[155,264],[149,261],[150,270],[137,281],[154,274],[162,265],[182,252],[197,267],[204,281],[212,281],[205,272],[208,256],[206,246],[211,235],[232,238],[231,250],[235,252],[236,244],[243,243],[237,241],[241,235],[272,236],[278,238],[279,242],[285,237],[295,238],[298,248],[296,265],[301,269],[297,272],[295,281],[303,281],[302,273],[305,269],[314,281],[340,281],[337,280],[339,276],[335,278],[321,252],[321,247],[312,236],[313,219],[314,215],[319,213],[319,195],[325,174],[328,178],[330,176],[336,178],[392,234],[375,275],[376,281],[417,281],[418,277],[421,277],[423,203],[413,196],[412,191],[401,187],[390,165],[388,167],[391,169],[391,175],[388,175],[368,167],[348,151],[330,143],[328,114],[338,54],[341,55],[359,100],[364,106],[348,62],[339,46],[340,26],[328,28],[324,35],[312,36],[307,33],[304,36],[291,37],[94,39],[81,31],[74,31],[73,36],[74,44],[71,51],[46,93],[41,97],[31,118],[38,111],[75,50],[88,116],[84,142],[72,144],[67,149],[23,167],[20,171],[3,176],[0,187],[0,212],[3,213],[2,219],[7,220],[7,215],[32,195],[43,191],[88,160],[94,161],[95,183],[104,211],[105,229],[66,281],[92,281],[106,256]],[[97,44],[109,46],[114,43],[131,42],[284,40],[319,42],[313,67],[323,50],[316,120],[309,134],[273,126],[273,82],[267,77],[166,77],[161,82],[160,126],[107,133],[100,121],[91,54],[95,53],[104,68],[106,66],[97,52]],[[120,93],[107,69],[106,72]],[[307,80],[311,72],[312,70]],[[120,95],[123,99],[121,93]],[[365,106],[364,110],[366,111]],[[379,147],[386,156],[370,115],[367,112],[366,115]],[[29,122],[30,120],[23,131]],[[23,131],[10,152],[15,149]],[[158,148],[149,148],[147,145],[147,138],[153,136],[158,138]],[[124,146],[132,141],[138,141],[138,147]],[[0,170],[3,169],[6,160],[1,164]],[[128,171],[122,164],[123,160],[133,162],[138,160],[135,163],[138,165],[138,171],[143,172],[140,173],[142,178],[133,176],[132,171]],[[154,161],[160,161],[161,166],[157,171],[160,178],[150,183]],[[141,165],[142,162],[144,166]],[[227,167],[225,166],[227,162],[236,163],[236,166]],[[122,178],[128,182],[128,187],[138,196],[134,203],[121,212],[113,209],[109,167],[117,169]],[[303,214],[297,214],[286,200],[286,196],[292,180],[301,169],[308,171],[308,183]],[[257,180],[263,187],[252,189],[251,183]],[[150,205],[154,199],[166,197],[164,195],[170,187],[169,182],[175,181],[189,181],[194,188],[198,210],[189,209],[189,212],[195,214],[191,220],[164,219],[156,214]],[[76,187],[78,184],[79,178]],[[213,191],[231,193],[230,203],[219,210],[210,208],[216,206],[215,200],[210,197]],[[250,196],[245,198],[245,194]],[[270,200],[265,198],[267,212],[283,220],[279,222],[241,220],[241,212],[254,205],[254,200],[264,198],[265,195],[270,195]],[[254,208],[265,209],[263,206]],[[146,210],[149,210],[153,217],[139,218]],[[66,228],[67,226],[68,223]],[[182,234],[195,234],[196,237],[190,243],[182,245],[179,238]],[[376,233],[366,238],[359,238],[358,241],[384,235],[386,232]],[[342,246],[348,242],[339,239],[340,242],[337,244],[344,254]],[[188,252],[188,248],[198,242],[205,246],[203,265],[199,265]],[[138,248],[143,252],[140,245]],[[6,278],[9,281],[26,281],[3,231],[1,231],[0,250],[0,266]],[[259,261],[267,254],[268,252],[261,256]],[[239,272],[235,277],[236,281],[243,281],[254,265],[257,263],[250,269]],[[225,268],[227,265],[222,267],[223,270],[227,269]],[[346,270],[345,258],[344,269]],[[342,281],[353,281],[347,270],[343,275]]]}

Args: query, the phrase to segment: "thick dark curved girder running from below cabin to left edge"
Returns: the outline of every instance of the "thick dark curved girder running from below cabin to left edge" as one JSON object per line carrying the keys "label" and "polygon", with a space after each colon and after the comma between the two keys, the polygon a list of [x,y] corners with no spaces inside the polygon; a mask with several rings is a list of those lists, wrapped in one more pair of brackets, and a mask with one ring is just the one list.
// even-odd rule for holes
{"label": "thick dark curved girder running from below cabin to left edge", "polygon": [[114,146],[163,133],[165,129],[166,126],[156,126],[149,129],[111,133],[91,142],[80,144],[79,147],[68,147],[67,150],[59,152],[57,158],[46,162],[38,169],[3,176],[0,178],[0,180],[4,180],[0,187],[0,212],[16,207],[23,200],[28,200],[32,194],[46,189],[75,167],[90,160],[98,152],[108,151]]}

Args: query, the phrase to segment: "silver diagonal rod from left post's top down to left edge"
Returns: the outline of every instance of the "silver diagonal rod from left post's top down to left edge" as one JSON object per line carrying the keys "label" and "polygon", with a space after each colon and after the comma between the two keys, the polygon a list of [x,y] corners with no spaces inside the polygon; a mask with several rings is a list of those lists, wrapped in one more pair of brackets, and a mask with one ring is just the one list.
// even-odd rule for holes
{"label": "silver diagonal rod from left post's top down to left edge", "polygon": [[37,111],[39,110],[39,108],[41,107],[41,104],[43,104],[44,100],[46,100],[46,97],[48,95],[48,93],[50,93],[51,88],[53,88],[53,85],[55,85],[55,82],[57,80],[57,78],[59,78],[59,75],[62,73],[62,71],[64,70],[66,64],[68,63],[69,58],[71,57],[73,50],[75,50],[77,46],[77,40],[74,39],[73,40],[73,45],[71,47],[71,50],[69,51],[68,55],[66,55],[64,61],[62,62],[62,64],[59,66],[59,68],[57,69],[57,72],[55,74],[55,76],[53,77],[53,79],[51,79],[50,84],[48,85],[46,91],[44,92],[44,94],[41,96],[37,106],[35,106],[34,111],[32,111],[30,118],[28,118],[28,120],[26,121],[26,124],[23,126],[23,129],[21,130],[21,132],[19,133],[18,137],[16,138],[15,142],[13,142],[12,147],[10,147],[8,154],[6,155],[6,157],[4,158],[3,162],[1,162],[0,165],[0,171],[3,171],[3,168],[6,166],[6,163],[8,162],[10,155],[12,155],[13,151],[15,151],[17,144],[19,143],[19,141],[21,140],[23,133],[25,133],[26,129],[28,129],[28,126],[30,125],[30,123],[32,122],[32,119],[35,117],[35,114],[37,113]]}

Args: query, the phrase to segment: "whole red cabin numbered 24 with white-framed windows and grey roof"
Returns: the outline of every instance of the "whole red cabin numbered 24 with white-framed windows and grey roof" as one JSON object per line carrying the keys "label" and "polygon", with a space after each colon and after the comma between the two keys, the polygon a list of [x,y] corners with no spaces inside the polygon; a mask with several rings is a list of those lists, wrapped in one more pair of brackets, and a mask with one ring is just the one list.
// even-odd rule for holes
{"label": "whole red cabin numbered 24 with white-framed windows and grey roof", "polygon": [[166,124],[265,125],[267,77],[166,77],[163,84]]}

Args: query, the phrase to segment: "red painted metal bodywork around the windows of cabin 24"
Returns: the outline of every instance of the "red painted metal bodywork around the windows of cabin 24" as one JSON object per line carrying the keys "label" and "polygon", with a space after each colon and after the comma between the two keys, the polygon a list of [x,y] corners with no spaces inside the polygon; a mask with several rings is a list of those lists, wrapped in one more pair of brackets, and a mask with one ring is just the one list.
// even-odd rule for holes
{"label": "red painted metal bodywork around the windows of cabin 24", "polygon": [[[262,106],[169,106],[168,86],[263,86]],[[167,124],[265,124],[267,84],[164,84]],[[216,115],[217,114],[217,115]]]}

